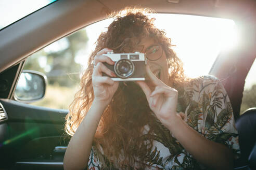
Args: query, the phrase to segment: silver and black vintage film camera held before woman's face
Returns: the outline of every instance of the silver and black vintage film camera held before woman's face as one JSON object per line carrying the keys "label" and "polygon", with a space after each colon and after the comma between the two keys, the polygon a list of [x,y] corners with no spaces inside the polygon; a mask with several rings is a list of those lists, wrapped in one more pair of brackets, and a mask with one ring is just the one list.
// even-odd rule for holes
{"label": "silver and black vintage film camera held before woman's face", "polygon": [[[103,54],[108,56],[114,65],[104,63],[112,70],[117,77],[111,77],[114,81],[137,81],[145,80],[146,75],[146,60],[145,54],[140,52],[134,53],[113,53],[113,51]],[[103,74],[104,76],[108,76]],[[109,76],[108,76],[109,77]]]}

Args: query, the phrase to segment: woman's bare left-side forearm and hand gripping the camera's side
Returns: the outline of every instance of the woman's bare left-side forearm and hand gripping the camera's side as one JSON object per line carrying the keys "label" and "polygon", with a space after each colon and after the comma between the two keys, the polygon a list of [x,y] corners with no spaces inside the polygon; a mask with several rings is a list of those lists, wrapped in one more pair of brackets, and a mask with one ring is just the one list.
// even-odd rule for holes
{"label": "woman's bare left-side forearm and hand gripping the camera's side", "polygon": [[69,142],[63,161],[65,169],[84,169],[86,167],[101,116],[117,91],[118,82],[103,76],[105,73],[114,77],[114,73],[103,64],[103,62],[114,64],[110,58],[103,55],[108,51],[111,50],[105,48],[95,55],[95,67],[92,75],[94,101]]}

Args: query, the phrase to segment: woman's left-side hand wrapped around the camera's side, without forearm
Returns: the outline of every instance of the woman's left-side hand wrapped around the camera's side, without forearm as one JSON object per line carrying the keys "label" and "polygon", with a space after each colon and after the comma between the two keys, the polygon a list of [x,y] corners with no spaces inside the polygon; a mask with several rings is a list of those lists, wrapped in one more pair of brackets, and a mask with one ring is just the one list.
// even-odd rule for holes
{"label": "woman's left-side hand wrapped around the camera's side, without forearm", "polygon": [[103,55],[110,51],[110,49],[104,48],[95,55],[95,67],[92,75],[94,100],[100,104],[106,105],[108,105],[112,100],[112,97],[117,91],[119,84],[117,81],[113,81],[110,77],[103,76],[103,73],[105,73],[111,77],[116,77],[116,74],[114,74],[103,64],[103,62],[110,65],[114,64],[114,62],[108,56]]}

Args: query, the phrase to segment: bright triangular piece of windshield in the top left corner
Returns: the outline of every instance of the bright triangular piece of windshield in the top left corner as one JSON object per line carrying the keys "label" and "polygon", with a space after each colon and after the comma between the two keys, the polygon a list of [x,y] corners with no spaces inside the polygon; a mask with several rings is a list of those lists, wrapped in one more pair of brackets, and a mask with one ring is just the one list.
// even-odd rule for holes
{"label": "bright triangular piece of windshield in the top left corner", "polygon": [[30,13],[43,8],[57,0],[1,0],[0,1],[0,30],[18,21]]}

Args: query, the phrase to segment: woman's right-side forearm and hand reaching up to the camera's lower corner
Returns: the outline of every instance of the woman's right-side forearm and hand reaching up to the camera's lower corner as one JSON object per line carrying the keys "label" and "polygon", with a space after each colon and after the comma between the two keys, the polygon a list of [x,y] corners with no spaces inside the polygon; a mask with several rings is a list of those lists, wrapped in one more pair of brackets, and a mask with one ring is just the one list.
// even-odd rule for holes
{"label": "woman's right-side forearm and hand reaching up to the camera's lower corner", "polygon": [[151,86],[144,81],[137,83],[146,94],[151,110],[155,112],[161,123],[167,126],[184,149],[197,161],[211,169],[233,169],[232,151],[222,144],[203,137],[183,121],[185,114],[176,113],[177,90],[159,80],[148,66],[146,71],[155,90],[151,90]]}

